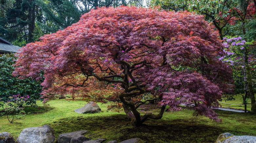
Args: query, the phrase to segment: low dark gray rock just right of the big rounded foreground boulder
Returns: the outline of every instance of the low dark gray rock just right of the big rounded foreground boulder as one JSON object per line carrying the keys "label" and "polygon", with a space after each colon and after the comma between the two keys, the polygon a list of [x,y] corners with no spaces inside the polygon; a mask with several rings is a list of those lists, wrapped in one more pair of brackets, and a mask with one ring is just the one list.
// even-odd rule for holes
{"label": "low dark gray rock just right of the big rounded foreground boulder", "polygon": [[82,143],[86,140],[90,140],[90,138],[83,136],[86,133],[87,133],[86,130],[81,130],[81,131],[60,134],[58,135],[57,141],[58,143]]}

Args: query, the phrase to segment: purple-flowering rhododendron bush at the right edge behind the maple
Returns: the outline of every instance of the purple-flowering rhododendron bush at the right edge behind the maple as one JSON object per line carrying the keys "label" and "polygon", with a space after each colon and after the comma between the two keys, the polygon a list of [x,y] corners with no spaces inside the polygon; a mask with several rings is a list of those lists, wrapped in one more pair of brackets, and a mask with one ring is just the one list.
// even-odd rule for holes
{"label": "purple-flowering rhododendron bush at the right edge behind the maple", "polygon": [[[224,51],[227,55],[219,59],[225,63],[229,63],[233,71],[233,79],[236,93],[245,93],[246,66],[249,68],[250,78],[252,80],[252,87],[256,89],[256,55],[255,42],[245,41],[242,37],[228,37],[224,38]],[[246,59],[246,58],[247,59]],[[245,60],[246,59],[246,60]]]}

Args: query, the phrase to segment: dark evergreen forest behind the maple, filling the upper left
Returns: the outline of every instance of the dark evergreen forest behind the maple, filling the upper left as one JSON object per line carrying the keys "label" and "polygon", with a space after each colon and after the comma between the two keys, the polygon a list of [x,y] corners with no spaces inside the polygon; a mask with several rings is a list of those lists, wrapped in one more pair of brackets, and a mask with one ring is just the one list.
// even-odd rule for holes
{"label": "dark evergreen forest behind the maple, filling the upper left", "polygon": [[142,6],[139,0],[1,0],[0,37],[17,46],[63,30],[97,7]]}

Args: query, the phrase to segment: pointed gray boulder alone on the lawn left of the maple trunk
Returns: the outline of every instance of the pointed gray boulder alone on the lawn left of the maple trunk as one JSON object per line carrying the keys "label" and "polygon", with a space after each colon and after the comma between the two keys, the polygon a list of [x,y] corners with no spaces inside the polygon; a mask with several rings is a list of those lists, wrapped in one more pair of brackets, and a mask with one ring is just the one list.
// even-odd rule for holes
{"label": "pointed gray boulder alone on the lawn left of the maple trunk", "polygon": [[97,113],[100,112],[101,109],[99,108],[99,105],[93,101],[88,102],[87,104],[85,104],[82,108],[79,109],[75,109],[76,113]]}

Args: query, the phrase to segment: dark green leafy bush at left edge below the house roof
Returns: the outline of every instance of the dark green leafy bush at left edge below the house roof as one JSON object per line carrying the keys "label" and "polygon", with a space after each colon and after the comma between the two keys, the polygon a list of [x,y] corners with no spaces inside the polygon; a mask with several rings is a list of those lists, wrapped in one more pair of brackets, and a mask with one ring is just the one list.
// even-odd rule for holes
{"label": "dark green leafy bush at left edge below the house roof", "polygon": [[11,95],[20,94],[29,95],[26,105],[36,106],[36,99],[40,99],[42,87],[40,83],[43,80],[35,81],[32,78],[18,79],[11,75],[14,71],[12,66],[15,63],[13,54],[4,54],[0,56],[0,98],[7,102]]}

